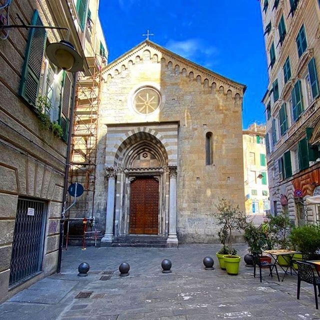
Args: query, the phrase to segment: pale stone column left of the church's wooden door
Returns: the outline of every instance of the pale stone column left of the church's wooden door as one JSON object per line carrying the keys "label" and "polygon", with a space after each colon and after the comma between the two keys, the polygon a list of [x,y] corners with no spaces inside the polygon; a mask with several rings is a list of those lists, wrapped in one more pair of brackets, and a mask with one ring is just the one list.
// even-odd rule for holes
{"label": "pale stone column left of the church's wooden door", "polygon": [[115,191],[115,170],[113,167],[106,167],[108,177],[108,195],[106,202],[105,233],[101,242],[111,244],[113,240],[113,217],[114,217],[114,191]]}

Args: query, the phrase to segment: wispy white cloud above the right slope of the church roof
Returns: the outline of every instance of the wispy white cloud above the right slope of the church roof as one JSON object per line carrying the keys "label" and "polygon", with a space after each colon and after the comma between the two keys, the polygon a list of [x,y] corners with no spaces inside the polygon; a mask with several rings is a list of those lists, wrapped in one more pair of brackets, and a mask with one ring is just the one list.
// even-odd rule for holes
{"label": "wispy white cloud above the right slope of the church roof", "polygon": [[164,47],[208,68],[214,66],[218,55],[216,47],[207,45],[203,40],[196,38],[181,41],[170,39]]}

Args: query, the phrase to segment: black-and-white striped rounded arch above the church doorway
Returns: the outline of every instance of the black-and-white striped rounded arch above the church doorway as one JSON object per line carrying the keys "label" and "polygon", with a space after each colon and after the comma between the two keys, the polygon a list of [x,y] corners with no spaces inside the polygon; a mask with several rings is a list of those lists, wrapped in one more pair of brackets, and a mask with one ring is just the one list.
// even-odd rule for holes
{"label": "black-and-white striped rounded arch above the church doorway", "polygon": [[113,163],[110,164],[116,167],[129,164],[131,154],[137,152],[143,145],[149,150],[154,148],[154,151],[161,155],[162,159],[159,159],[161,165],[176,165],[176,147],[172,147],[172,142],[168,141],[165,134],[148,127],[134,128],[119,138],[113,145],[112,151],[108,152],[108,159],[113,159]]}

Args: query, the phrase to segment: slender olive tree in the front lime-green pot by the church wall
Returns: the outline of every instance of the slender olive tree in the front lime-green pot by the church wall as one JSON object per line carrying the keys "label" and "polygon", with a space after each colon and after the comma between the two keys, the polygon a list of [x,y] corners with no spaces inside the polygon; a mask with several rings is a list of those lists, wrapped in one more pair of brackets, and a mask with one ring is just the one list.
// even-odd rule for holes
{"label": "slender olive tree in the front lime-green pot by the church wall", "polygon": [[[233,205],[229,200],[220,198],[218,204],[215,205],[215,218],[217,223],[221,226],[220,234],[225,236],[228,242],[227,254],[223,255],[224,267],[228,274],[238,274],[239,262],[241,257],[234,254],[232,248],[232,231],[241,231],[245,227],[246,217],[240,211],[238,205]],[[223,237],[222,237],[223,238]],[[225,241],[225,240],[224,240]],[[223,248],[226,248],[225,245]]]}

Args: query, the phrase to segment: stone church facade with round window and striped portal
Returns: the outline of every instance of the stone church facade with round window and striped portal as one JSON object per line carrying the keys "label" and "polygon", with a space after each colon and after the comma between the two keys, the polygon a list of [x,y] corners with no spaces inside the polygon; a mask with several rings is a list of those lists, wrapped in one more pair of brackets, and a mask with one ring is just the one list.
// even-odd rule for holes
{"label": "stone church facade with round window and striped portal", "polygon": [[245,86],[148,40],[103,71],[95,217],[102,244],[217,241],[214,204],[244,210]]}

